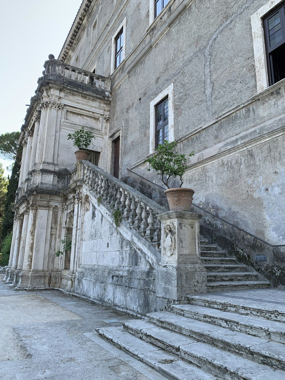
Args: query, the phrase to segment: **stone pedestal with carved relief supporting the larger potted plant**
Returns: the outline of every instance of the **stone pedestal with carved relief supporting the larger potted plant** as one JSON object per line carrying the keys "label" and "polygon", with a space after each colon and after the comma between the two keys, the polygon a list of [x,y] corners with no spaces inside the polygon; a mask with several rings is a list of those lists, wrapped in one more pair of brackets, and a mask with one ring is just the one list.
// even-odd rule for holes
{"label": "stone pedestal with carved relief supporting the larger potted plant", "polygon": [[200,258],[201,217],[183,211],[159,215],[161,261],[156,269],[157,297],[183,302],[187,301],[187,294],[207,292],[206,269]]}

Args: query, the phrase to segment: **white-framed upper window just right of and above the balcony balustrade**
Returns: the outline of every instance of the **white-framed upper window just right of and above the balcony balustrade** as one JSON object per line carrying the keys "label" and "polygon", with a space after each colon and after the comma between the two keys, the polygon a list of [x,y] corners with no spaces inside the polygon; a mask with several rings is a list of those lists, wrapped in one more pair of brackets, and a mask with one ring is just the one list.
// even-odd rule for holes
{"label": "white-framed upper window just right of and above the balcony balustrade", "polygon": [[125,59],[126,51],[126,17],[112,36],[111,75]]}

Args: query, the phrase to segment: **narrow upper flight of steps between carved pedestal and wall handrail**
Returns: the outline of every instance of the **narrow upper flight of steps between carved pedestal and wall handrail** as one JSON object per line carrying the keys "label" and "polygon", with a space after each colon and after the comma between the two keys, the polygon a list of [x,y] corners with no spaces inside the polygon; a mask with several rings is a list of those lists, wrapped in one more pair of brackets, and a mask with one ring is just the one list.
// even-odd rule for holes
{"label": "narrow upper flight of steps between carved pedestal and wall handrail", "polygon": [[207,269],[207,290],[242,290],[268,288],[268,281],[256,279],[257,272],[247,271],[247,267],[237,263],[235,257],[226,257],[226,252],[217,251],[215,244],[200,239],[201,260]]}

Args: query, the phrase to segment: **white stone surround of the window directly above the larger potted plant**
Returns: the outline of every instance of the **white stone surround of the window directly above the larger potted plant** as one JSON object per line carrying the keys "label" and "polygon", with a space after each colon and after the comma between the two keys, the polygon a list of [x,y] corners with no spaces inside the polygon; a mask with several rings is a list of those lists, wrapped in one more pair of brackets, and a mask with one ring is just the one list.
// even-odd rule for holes
{"label": "white stone surround of the window directly above the larger potted plant", "polygon": [[155,152],[155,106],[168,96],[168,128],[169,141],[174,141],[174,88],[173,83],[159,93],[149,104],[149,154]]}

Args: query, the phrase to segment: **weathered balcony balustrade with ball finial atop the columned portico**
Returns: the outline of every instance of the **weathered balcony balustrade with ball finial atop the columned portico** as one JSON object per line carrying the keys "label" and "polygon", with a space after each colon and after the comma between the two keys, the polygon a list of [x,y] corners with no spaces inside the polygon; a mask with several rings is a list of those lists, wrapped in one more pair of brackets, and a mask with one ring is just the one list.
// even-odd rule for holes
{"label": "weathered balcony balustrade with ball finial atop the columned portico", "polygon": [[76,82],[82,82],[90,87],[96,87],[97,89],[110,90],[110,79],[105,76],[101,76],[90,71],[79,69],[78,67],[67,65],[66,63],[57,59],[49,59],[44,63],[45,74],[57,74],[65,78],[71,79]]}

